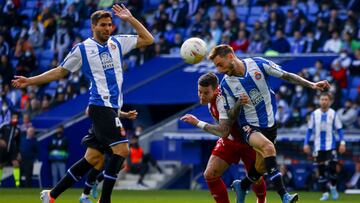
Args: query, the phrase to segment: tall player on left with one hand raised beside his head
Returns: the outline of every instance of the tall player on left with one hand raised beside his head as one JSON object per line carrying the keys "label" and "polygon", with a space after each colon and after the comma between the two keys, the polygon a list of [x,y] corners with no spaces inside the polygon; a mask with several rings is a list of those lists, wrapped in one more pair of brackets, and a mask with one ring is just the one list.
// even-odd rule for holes
{"label": "tall player on left with one hand raised beside his head", "polygon": [[[100,203],[110,203],[117,173],[128,156],[129,147],[126,136],[120,134],[122,124],[117,110],[122,106],[121,86],[123,81],[123,55],[136,47],[153,43],[150,32],[130,13],[124,5],[114,5],[114,14],[128,22],[138,35],[111,35],[113,28],[111,12],[99,10],[91,15],[93,37],[75,45],[64,61],[52,70],[41,75],[26,78],[16,76],[13,86],[24,88],[29,85],[41,85],[63,78],[69,72],[82,68],[90,80],[89,117],[93,122],[97,143],[110,146],[112,155],[105,168],[104,183]],[[41,192],[43,203],[52,203],[66,189],[71,187],[84,174],[99,162],[102,153],[87,148],[84,158],[68,170],[51,191]]]}

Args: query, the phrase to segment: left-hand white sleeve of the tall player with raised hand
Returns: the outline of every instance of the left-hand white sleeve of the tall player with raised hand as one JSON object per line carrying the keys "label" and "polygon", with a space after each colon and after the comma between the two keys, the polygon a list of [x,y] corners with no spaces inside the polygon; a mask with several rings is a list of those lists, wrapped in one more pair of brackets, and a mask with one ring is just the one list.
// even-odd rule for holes
{"label": "left-hand white sleeve of the tall player with raised hand", "polygon": [[65,68],[70,72],[76,72],[82,66],[82,58],[80,46],[75,45],[68,55],[65,57],[64,61],[60,63],[60,66]]}

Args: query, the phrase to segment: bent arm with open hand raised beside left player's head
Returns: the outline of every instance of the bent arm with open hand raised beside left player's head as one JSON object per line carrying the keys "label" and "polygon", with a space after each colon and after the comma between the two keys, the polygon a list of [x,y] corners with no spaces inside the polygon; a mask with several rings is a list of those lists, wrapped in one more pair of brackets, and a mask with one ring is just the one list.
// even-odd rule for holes
{"label": "bent arm with open hand raised beside left player's head", "polygon": [[118,16],[121,20],[125,20],[131,24],[131,26],[136,30],[138,34],[138,40],[136,47],[143,47],[154,43],[154,37],[152,34],[136,19],[132,16],[130,11],[121,4],[113,5],[112,10],[114,11],[115,15]]}

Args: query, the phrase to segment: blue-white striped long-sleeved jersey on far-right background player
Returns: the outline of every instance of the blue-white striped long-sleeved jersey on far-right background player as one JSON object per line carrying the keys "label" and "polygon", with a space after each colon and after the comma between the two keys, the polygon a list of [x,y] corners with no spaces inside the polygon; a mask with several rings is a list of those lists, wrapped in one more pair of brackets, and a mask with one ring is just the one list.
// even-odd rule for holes
{"label": "blue-white striped long-sleeved jersey on far-right background player", "polygon": [[314,134],[314,151],[328,151],[336,148],[335,132],[339,134],[339,140],[344,140],[342,123],[334,109],[329,108],[327,112],[316,109],[312,112],[308,122],[308,129],[304,144],[308,144],[310,137]]}

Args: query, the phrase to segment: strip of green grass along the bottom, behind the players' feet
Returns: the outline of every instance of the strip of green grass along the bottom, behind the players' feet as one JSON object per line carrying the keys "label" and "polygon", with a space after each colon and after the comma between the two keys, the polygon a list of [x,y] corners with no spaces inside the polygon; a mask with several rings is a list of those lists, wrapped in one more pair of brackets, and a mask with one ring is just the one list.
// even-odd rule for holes
{"label": "strip of green grass along the bottom, behind the players' feet", "polygon": [[[71,189],[63,193],[56,203],[75,203],[78,202],[81,194],[80,189]],[[0,188],[1,203],[40,203],[39,189],[3,189]],[[229,191],[231,202],[235,202],[235,195]],[[300,200],[303,203],[319,203],[320,193],[299,192]],[[253,193],[247,196],[247,202],[254,203]],[[96,201],[93,200],[93,203]],[[191,190],[152,190],[152,191],[114,191],[112,203],[202,203],[214,202],[208,191]],[[268,203],[280,203],[280,199],[275,192],[268,192]],[[337,201],[327,201],[327,203],[359,203],[360,195],[340,194]]]}

